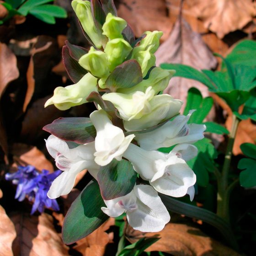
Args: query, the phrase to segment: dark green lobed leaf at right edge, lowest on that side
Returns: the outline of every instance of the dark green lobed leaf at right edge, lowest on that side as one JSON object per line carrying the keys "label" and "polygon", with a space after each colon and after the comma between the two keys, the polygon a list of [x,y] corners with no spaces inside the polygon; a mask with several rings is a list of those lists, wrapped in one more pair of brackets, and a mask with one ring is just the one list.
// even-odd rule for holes
{"label": "dark green lobed leaf at right edge, lowest on that side", "polygon": [[251,143],[244,143],[240,146],[242,152],[250,157],[243,158],[238,163],[238,168],[244,170],[240,172],[239,180],[243,187],[256,186],[256,145]]}

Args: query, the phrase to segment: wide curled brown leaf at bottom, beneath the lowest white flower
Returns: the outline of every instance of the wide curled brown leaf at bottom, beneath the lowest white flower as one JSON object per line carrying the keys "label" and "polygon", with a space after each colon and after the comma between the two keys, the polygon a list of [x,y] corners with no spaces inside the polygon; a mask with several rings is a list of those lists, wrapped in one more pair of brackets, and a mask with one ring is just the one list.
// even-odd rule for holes
{"label": "wide curled brown leaf at bottom, beneath the lowest white flower", "polygon": [[145,251],[162,251],[174,256],[239,256],[229,247],[205,235],[200,229],[187,224],[169,223],[162,231],[154,233],[143,233],[128,225],[125,235],[131,243],[143,237],[159,235],[160,240]]}

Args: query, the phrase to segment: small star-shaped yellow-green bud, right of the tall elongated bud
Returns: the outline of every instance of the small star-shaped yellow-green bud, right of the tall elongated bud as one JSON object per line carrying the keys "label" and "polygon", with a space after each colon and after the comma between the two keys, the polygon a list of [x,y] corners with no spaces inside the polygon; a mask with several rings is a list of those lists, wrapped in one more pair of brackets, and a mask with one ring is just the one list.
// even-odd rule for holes
{"label": "small star-shaped yellow-green bud, right of the tall elongated bud", "polygon": [[127,22],[119,17],[108,13],[106,21],[102,26],[103,35],[106,35],[109,40],[115,38],[123,38],[122,31],[127,26]]}

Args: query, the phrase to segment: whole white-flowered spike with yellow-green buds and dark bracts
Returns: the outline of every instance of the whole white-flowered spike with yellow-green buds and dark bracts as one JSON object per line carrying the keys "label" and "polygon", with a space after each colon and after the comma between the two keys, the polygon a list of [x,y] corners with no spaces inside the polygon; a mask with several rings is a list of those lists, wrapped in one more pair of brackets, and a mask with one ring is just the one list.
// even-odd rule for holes
{"label": "whole white-flowered spike with yellow-green buds and dark bracts", "polygon": [[[62,118],[45,128],[53,134],[46,141],[48,151],[63,171],[48,196],[69,193],[83,169],[94,177],[67,213],[66,243],[90,234],[104,222],[104,214],[117,217],[126,213],[128,223],[140,231],[163,229],[170,215],[158,192],[172,197],[188,194],[192,200],[196,176],[186,161],[197,155],[197,148],[188,143],[202,139],[205,130],[204,125],[187,125],[192,112],[187,117],[179,115],[182,101],[159,95],[175,73],[155,67],[154,53],[162,32],[147,31],[135,42],[131,28],[117,17],[114,6],[95,3],[72,1],[92,46],[80,58],[73,58],[77,48],[67,44],[69,56],[66,51],[63,56],[64,60],[73,58],[88,73],[75,85],[58,87],[46,102],[60,110],[87,101],[97,106],[90,118]],[[157,151],[171,145],[176,146],[169,154]],[[97,199],[92,202],[92,198]],[[85,212],[90,207],[93,214],[88,217]],[[79,214],[85,214],[83,229],[71,220],[79,219]]]}

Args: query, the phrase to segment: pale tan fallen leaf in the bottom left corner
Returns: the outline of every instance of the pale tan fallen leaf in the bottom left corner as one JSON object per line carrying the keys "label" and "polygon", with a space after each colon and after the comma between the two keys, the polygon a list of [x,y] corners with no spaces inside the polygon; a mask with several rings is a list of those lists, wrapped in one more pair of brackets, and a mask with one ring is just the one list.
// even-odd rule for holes
{"label": "pale tan fallen leaf in the bottom left corner", "polygon": [[0,206],[0,237],[0,255],[13,256],[11,245],[16,237],[16,231],[2,206]]}

